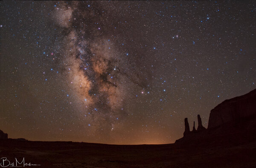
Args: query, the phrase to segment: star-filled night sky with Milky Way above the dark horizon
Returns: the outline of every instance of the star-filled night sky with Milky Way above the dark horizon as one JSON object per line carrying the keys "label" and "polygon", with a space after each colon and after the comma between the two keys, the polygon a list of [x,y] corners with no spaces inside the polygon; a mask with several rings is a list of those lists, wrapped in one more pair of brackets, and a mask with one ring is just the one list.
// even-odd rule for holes
{"label": "star-filled night sky with Milky Way above the dark horizon", "polygon": [[1,1],[10,138],[173,143],[256,88],[255,1]]}

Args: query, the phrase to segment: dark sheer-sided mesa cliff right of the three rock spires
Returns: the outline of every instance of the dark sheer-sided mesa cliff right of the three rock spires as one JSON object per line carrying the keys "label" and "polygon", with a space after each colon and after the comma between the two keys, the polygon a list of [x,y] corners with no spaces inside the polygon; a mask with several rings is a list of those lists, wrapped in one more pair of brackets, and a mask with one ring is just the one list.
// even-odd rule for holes
{"label": "dark sheer-sided mesa cliff right of the three rock spires", "polygon": [[239,122],[256,115],[256,89],[239,97],[225,100],[210,112],[208,128],[228,122]]}

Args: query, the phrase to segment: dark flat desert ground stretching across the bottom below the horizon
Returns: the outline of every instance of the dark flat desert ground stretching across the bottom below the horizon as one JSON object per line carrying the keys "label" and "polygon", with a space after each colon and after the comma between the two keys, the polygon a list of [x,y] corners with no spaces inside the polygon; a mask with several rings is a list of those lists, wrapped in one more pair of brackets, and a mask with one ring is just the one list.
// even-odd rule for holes
{"label": "dark flat desert ground stretching across the bottom below the horizon", "polygon": [[[228,142],[230,141],[230,142]],[[255,168],[256,140],[194,144],[106,145],[84,142],[0,140],[0,157],[40,164],[27,167]],[[1,160],[2,161],[2,160]],[[26,166],[25,166],[26,167]]]}

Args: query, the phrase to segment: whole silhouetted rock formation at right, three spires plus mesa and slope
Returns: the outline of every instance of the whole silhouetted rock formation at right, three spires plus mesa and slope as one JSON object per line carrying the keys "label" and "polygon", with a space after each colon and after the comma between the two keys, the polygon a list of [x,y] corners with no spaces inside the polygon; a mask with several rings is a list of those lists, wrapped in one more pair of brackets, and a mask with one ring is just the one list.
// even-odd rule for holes
{"label": "whole silhouetted rock formation at right, three spires plus mesa and slope", "polygon": [[[175,142],[251,142],[256,140],[256,89],[217,105],[210,112],[208,128],[204,128],[198,115],[198,128],[188,131],[185,119],[184,137]],[[185,134],[186,133],[186,134]]]}

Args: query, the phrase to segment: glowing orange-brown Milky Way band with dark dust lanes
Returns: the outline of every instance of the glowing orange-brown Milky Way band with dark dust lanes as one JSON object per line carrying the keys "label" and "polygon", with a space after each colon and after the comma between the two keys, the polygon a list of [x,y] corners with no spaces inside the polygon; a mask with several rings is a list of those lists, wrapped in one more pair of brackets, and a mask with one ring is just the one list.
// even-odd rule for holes
{"label": "glowing orange-brown Milky Way band with dark dust lanes", "polygon": [[140,74],[130,70],[128,54],[103,35],[111,24],[108,18],[113,15],[103,17],[81,2],[59,3],[54,12],[54,20],[63,28],[63,75],[70,81],[76,101],[82,103],[81,115],[92,120],[90,126],[95,130],[103,127],[113,131],[115,121],[127,115],[122,108],[133,96],[129,90],[139,92],[146,88]]}

